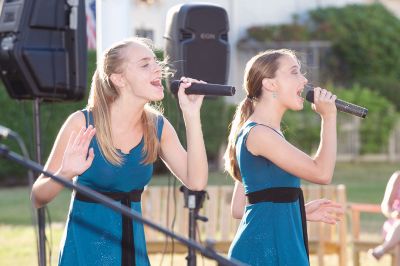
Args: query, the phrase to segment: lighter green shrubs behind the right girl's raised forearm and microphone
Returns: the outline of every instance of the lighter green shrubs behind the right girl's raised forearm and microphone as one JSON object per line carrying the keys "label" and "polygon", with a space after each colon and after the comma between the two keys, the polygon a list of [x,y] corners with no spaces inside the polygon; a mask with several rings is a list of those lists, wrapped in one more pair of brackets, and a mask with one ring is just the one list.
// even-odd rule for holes
{"label": "lighter green shrubs behind the right girl's raised forearm and microphone", "polygon": [[[399,119],[395,106],[378,92],[354,85],[352,88],[330,87],[338,98],[368,108],[367,118],[360,121],[361,154],[387,152],[390,133]],[[305,103],[301,112],[287,112],[283,121],[286,139],[301,150],[311,153],[318,148],[320,140],[320,118]],[[349,114],[338,112],[338,121]],[[338,131],[341,128],[338,122]],[[339,144],[340,145],[340,144]]]}

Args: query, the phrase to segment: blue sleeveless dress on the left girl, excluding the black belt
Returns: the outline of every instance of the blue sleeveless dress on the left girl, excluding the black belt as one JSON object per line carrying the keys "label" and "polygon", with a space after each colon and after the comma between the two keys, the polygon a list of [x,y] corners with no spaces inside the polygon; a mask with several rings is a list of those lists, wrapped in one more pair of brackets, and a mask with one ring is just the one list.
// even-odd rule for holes
{"label": "blue sleeveless dress on the left girl, excluding the black belt", "polygon": [[[92,113],[87,110],[87,123],[93,125]],[[157,136],[161,138],[164,125],[162,116],[157,117]],[[99,192],[129,192],[143,189],[153,173],[153,165],[143,165],[142,149],[144,140],[122,154],[124,162],[115,166],[106,161],[100,152],[96,136],[90,147],[94,149],[94,160],[88,170],[78,176],[79,185],[90,187]],[[131,202],[131,209],[141,213],[141,202]],[[143,224],[133,221],[134,265],[150,265]],[[70,209],[64,235],[61,241],[59,265],[121,265],[122,216],[102,204],[71,197]]]}

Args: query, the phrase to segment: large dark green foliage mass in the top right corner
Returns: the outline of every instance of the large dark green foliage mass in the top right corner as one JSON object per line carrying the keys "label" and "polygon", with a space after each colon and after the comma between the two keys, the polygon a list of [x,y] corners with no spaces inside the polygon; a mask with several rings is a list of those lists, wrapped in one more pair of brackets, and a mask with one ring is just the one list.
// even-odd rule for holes
{"label": "large dark green foliage mass in the top right corner", "polygon": [[379,91],[400,110],[399,32],[400,20],[383,5],[371,4],[319,8],[301,24],[251,27],[247,33],[257,41],[330,41],[324,75],[337,85],[358,83]]}

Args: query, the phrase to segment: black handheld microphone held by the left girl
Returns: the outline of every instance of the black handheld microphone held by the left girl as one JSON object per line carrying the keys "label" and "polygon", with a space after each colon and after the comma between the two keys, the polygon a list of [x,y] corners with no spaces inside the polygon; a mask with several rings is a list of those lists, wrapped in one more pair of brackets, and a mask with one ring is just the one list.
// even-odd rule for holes
{"label": "black handheld microphone held by the left girl", "polygon": [[[180,84],[180,80],[172,81],[170,89],[173,94],[178,93]],[[214,96],[233,96],[235,95],[235,92],[236,90],[233,86],[212,83],[192,83],[192,85],[190,85],[190,87],[185,90],[186,94]]]}

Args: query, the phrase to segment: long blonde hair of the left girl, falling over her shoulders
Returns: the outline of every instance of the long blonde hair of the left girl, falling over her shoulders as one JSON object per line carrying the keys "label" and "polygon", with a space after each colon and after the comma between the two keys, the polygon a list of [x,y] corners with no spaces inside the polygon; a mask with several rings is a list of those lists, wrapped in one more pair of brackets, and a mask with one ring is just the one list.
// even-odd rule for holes
{"label": "long blonde hair of the left girl, falling over her shoulders", "polygon": [[[122,73],[126,61],[126,49],[132,44],[141,44],[151,48],[148,40],[130,38],[114,44],[108,48],[100,62],[91,83],[91,92],[87,109],[92,111],[96,127],[96,139],[100,151],[107,161],[114,165],[121,165],[123,158],[114,147],[111,135],[110,106],[119,97],[117,87],[110,79],[113,73]],[[142,154],[145,156],[142,163],[153,163],[158,156],[159,140],[157,138],[157,115],[160,112],[150,104],[146,104],[142,113],[144,147]]]}

